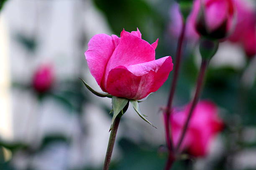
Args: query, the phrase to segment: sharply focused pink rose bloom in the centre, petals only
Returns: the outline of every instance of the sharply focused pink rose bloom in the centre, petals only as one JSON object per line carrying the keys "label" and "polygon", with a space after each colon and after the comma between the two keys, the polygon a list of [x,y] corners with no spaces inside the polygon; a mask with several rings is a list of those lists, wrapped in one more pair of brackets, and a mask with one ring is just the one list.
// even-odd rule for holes
{"label": "sharply focused pink rose bloom in the centre, petals only", "polygon": [[170,56],[155,60],[158,40],[149,44],[141,32],[123,30],[116,35],[97,34],[84,53],[92,76],[104,92],[139,100],[155,92],[172,71]]}

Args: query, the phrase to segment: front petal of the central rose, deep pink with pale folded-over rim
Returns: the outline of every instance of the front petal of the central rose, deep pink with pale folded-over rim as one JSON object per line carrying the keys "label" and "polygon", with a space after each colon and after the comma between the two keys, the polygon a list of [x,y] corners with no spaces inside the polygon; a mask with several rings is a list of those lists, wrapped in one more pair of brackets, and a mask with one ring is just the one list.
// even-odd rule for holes
{"label": "front petal of the central rose, deep pink with pale folded-over rim", "polygon": [[172,58],[119,66],[109,72],[107,91],[114,96],[139,100],[163,85],[172,70]]}

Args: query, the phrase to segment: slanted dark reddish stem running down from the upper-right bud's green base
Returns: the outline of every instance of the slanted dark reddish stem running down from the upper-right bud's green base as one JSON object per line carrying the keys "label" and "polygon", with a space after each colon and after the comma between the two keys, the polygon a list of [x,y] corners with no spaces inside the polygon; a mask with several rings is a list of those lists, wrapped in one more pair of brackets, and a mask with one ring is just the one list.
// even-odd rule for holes
{"label": "slanted dark reddish stem running down from the upper-right bud's green base", "polygon": [[202,59],[202,63],[201,63],[201,67],[200,67],[200,72],[199,72],[199,75],[198,75],[198,78],[197,78],[197,89],[196,89],[196,92],[195,92],[195,96],[193,98],[193,101],[192,101],[192,104],[189,108],[189,114],[187,116],[187,120],[184,124],[184,127],[182,129],[182,134],[179,138],[179,142],[178,142],[178,145],[177,145],[177,148],[176,148],[176,152],[179,152],[179,149],[182,145],[182,141],[184,140],[184,137],[186,135],[186,132],[187,132],[187,128],[189,126],[189,120],[191,119],[192,117],[192,113],[195,109],[195,106],[197,105],[197,102],[199,100],[199,97],[200,97],[200,92],[202,90],[202,85],[203,85],[203,80],[205,78],[205,72],[206,72],[206,69],[207,69],[207,65],[209,63],[210,60],[207,60],[207,59]]}

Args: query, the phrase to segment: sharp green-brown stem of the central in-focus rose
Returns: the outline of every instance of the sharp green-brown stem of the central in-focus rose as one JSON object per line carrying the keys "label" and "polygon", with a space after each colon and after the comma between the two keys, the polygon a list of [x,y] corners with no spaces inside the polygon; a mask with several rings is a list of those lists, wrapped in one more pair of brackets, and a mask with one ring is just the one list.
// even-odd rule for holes
{"label": "sharp green-brown stem of the central in-focus rose", "polygon": [[113,129],[111,130],[110,137],[109,137],[109,140],[108,140],[108,149],[107,149],[107,153],[106,153],[106,156],[105,156],[105,162],[104,162],[104,166],[103,166],[102,170],[108,170],[109,169],[111,155],[112,155],[113,148],[114,148],[114,145],[115,145],[115,136],[116,136],[116,133],[117,133],[117,130],[118,130],[118,125],[119,125],[121,116],[122,115],[119,114],[115,118],[115,121],[113,123]]}

